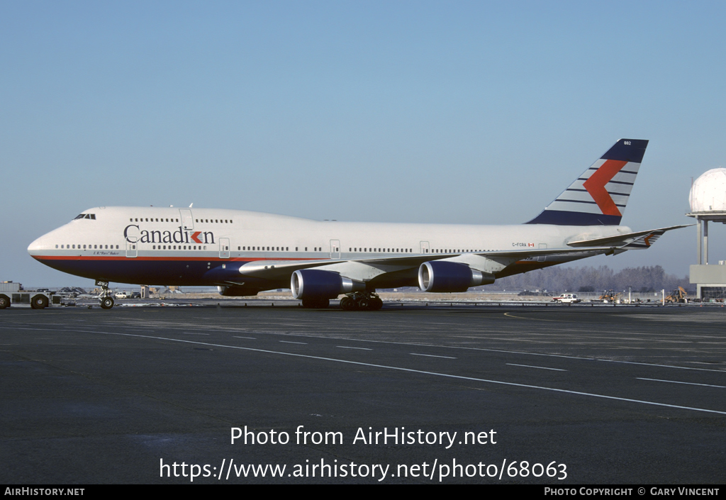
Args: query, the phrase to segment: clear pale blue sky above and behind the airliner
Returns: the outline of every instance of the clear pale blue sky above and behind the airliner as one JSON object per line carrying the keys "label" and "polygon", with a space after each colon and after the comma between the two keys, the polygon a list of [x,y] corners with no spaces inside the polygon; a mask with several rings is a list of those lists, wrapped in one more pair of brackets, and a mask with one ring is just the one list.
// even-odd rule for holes
{"label": "clear pale blue sky above and behind the airliner", "polygon": [[[621,137],[624,224],[726,166],[723,1],[0,0],[0,280],[92,206],[519,223]],[[711,227],[711,262],[726,228]],[[578,265],[685,275],[694,228]]]}

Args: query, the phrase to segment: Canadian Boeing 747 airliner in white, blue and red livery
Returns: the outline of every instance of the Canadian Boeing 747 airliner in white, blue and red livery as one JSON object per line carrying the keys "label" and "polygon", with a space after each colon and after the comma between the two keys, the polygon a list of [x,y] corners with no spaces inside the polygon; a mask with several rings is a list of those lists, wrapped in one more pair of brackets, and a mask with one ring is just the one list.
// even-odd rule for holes
{"label": "Canadian Boeing 747 airliner in white, blue and red livery", "polygon": [[[383,305],[376,289],[465,291],[541,267],[647,249],[684,227],[633,232],[620,225],[647,146],[647,140],[619,140],[522,225],[321,222],[191,206],[98,206],[30,243],[28,253],[102,286],[213,285],[237,297],[289,286],[304,307],[328,307],[345,294],[343,309],[375,310]],[[109,294],[100,300],[113,307]]]}

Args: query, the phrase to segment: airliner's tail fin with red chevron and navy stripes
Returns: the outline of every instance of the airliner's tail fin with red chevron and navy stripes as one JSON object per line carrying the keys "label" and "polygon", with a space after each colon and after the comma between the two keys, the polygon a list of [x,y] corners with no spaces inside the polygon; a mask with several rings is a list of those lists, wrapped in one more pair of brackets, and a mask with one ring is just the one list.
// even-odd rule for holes
{"label": "airliner's tail fin with red chevron and navy stripes", "polygon": [[527,224],[619,225],[647,147],[619,140]]}

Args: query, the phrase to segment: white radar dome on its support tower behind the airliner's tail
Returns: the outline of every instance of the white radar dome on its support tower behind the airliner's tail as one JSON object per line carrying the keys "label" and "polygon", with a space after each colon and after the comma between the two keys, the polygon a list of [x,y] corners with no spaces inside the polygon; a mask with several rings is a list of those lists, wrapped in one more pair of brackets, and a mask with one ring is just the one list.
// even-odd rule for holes
{"label": "white radar dome on its support tower behind the airliner's tail", "polygon": [[726,224],[726,169],[711,169],[690,188],[690,213],[696,219],[697,263],[690,266],[690,283],[696,284],[698,299],[726,298],[726,261],[709,265],[709,222]]}

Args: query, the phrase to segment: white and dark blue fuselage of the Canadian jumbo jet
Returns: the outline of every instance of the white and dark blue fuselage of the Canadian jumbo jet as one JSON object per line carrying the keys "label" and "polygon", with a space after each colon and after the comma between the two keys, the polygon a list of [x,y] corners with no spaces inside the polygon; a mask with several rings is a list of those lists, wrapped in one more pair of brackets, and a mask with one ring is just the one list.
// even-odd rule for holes
{"label": "white and dark blue fuselage of the Canadian jumbo jet", "polygon": [[[405,256],[473,254],[523,249],[564,249],[568,241],[629,233],[624,226],[444,225],[314,221],[226,209],[97,207],[30,244],[31,256],[66,273],[102,281],[165,285],[222,285],[213,272],[260,261],[317,261],[336,272],[370,281],[386,273],[357,271],[346,262]],[[589,257],[592,252],[531,257],[497,277]],[[457,256],[447,257],[456,260]],[[380,267],[380,266],[379,266]],[[385,267],[385,266],[383,266]],[[410,267],[410,266],[409,266]],[[415,266],[417,267],[417,266]],[[322,267],[321,267],[322,268]],[[406,266],[378,286],[415,284]],[[415,270],[414,270],[415,271]],[[356,273],[362,275],[355,275]],[[353,275],[351,275],[353,274]],[[261,289],[289,283],[258,278]]]}

